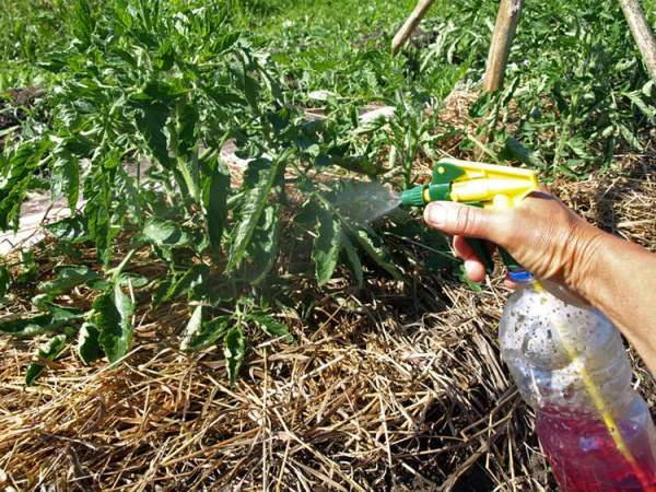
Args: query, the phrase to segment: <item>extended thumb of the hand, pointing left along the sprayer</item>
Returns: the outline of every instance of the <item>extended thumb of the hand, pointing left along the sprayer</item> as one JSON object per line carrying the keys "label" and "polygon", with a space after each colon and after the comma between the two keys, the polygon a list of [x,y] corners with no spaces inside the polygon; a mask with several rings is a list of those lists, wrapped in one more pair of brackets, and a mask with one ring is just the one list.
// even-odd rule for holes
{"label": "extended thumb of the hand, pointing left along the sprayer", "polygon": [[424,209],[424,221],[449,235],[478,237],[497,243],[503,220],[496,212],[452,201],[433,201]]}

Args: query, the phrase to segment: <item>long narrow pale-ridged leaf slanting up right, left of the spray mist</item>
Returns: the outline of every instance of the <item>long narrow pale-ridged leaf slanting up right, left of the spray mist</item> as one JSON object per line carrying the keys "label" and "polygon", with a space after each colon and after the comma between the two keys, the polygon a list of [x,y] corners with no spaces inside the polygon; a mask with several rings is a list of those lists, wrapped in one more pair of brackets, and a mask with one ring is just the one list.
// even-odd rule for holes
{"label": "long narrow pale-ridged leaf slanting up right, left of the spray mist", "polygon": [[[226,267],[229,272],[236,270],[242,265],[248,245],[250,244],[260,218],[267,207],[269,191],[280,179],[281,171],[283,168],[283,160],[279,159],[271,164],[269,169],[261,169],[258,173],[259,179],[257,184],[250,188],[244,197],[245,204],[242,209],[242,216],[236,226],[230,250],[230,258]],[[253,176],[249,178],[253,178]]]}

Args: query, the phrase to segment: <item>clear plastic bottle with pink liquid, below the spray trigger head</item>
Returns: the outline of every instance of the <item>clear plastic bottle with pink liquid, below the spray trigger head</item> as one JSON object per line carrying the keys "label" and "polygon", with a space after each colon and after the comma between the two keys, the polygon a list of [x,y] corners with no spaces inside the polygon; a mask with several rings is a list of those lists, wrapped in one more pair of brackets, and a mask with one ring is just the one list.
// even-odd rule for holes
{"label": "clear plastic bottle with pink liquid, below the spray trigger head", "polygon": [[501,352],[561,490],[656,491],[656,431],[619,332],[565,288],[524,280],[503,313]]}

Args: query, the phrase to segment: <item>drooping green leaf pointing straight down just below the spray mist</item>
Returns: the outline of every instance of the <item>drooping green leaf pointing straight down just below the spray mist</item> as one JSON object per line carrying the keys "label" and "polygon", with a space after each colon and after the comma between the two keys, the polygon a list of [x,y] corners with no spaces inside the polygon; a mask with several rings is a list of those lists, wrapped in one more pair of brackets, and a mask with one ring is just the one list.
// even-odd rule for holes
{"label": "drooping green leaf pointing straight down just below the spray mist", "polygon": [[321,209],[317,214],[318,230],[312,250],[315,262],[317,282],[324,285],[328,282],[339,260],[342,248],[342,231],[338,220],[327,210]]}

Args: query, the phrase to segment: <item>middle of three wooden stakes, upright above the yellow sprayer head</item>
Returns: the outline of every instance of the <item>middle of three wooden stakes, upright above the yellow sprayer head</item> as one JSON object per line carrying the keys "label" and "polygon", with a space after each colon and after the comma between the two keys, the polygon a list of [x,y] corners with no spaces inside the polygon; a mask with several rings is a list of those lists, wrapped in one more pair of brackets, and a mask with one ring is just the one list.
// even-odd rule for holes
{"label": "middle of three wooden stakes, upright above the yellow sprayer head", "polygon": [[503,85],[503,77],[508,62],[508,55],[515,36],[515,30],[519,22],[524,0],[501,0],[490,54],[488,55],[488,66],[485,67],[485,78],[483,89],[485,92],[496,91]]}

